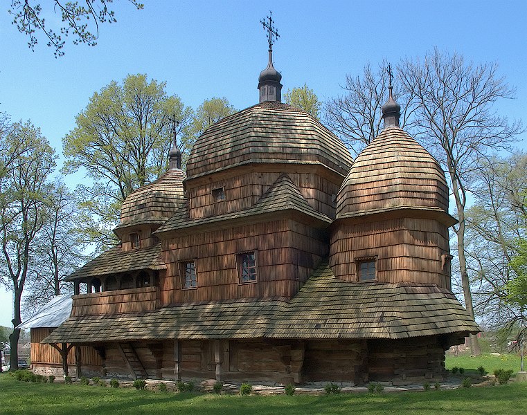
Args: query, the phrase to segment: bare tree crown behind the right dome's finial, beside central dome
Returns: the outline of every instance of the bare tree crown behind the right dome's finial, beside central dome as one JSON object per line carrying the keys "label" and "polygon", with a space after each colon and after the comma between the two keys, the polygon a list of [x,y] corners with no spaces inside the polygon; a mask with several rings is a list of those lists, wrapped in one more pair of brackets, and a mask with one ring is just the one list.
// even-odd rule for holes
{"label": "bare tree crown behind the right dome's finial, beside central dome", "polygon": [[[343,95],[325,103],[325,123],[355,155],[382,131],[381,109],[388,100],[387,68],[387,62],[382,62],[377,71],[367,64],[361,75],[347,75]],[[402,89],[400,82],[394,83],[394,95],[403,111],[400,124],[408,129],[414,110],[410,104],[412,95]]]}

